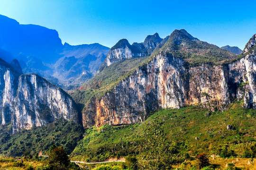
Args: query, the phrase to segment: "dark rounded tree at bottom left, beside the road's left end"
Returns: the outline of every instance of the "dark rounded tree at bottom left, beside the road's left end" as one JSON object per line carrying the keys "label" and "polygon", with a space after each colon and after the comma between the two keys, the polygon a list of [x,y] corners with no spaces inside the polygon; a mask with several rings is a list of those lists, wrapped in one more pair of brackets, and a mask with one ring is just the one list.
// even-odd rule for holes
{"label": "dark rounded tree at bottom left, beside the road's left end", "polygon": [[64,149],[55,145],[50,148],[48,162],[51,170],[66,170],[70,164],[69,157]]}

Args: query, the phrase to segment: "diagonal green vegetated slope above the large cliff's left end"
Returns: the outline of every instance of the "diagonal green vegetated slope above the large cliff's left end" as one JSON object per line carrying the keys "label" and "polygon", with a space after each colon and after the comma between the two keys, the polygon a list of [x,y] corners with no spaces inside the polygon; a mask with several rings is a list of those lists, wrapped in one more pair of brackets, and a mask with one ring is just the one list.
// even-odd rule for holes
{"label": "diagonal green vegetated slope above the large cliff's left end", "polygon": [[120,80],[131,75],[136,68],[147,61],[148,57],[140,57],[116,62],[105,67],[82,87],[71,93],[71,96],[76,102],[86,105],[92,98],[101,97],[104,93],[110,92]]}

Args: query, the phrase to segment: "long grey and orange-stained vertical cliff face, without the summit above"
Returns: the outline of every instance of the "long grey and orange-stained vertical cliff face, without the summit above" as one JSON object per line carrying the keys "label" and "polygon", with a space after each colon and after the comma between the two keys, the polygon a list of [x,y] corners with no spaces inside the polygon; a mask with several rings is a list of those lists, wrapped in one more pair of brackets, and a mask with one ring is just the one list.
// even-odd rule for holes
{"label": "long grey and orange-stained vertical cliff face, without the summit above", "polygon": [[212,111],[225,110],[237,99],[244,99],[243,107],[256,109],[255,82],[255,50],[230,64],[190,68],[183,59],[162,51],[111,92],[92,100],[83,111],[83,125],[136,123],[156,108],[201,105]]}

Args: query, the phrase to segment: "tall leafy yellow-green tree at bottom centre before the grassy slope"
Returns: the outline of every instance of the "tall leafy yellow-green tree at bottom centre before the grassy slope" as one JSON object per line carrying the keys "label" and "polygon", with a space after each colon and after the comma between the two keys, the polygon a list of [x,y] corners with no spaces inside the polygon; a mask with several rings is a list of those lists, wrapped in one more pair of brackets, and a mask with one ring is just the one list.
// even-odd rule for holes
{"label": "tall leafy yellow-green tree at bottom centre before the grassy slope", "polygon": [[162,128],[148,128],[141,142],[138,164],[144,170],[170,170],[176,162],[171,143]]}

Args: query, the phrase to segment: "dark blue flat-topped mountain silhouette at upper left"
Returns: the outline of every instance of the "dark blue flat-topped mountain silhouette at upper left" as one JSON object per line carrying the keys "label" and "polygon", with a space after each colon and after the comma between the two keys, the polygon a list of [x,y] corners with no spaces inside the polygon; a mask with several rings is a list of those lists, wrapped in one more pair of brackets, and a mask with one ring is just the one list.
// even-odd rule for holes
{"label": "dark blue flat-topped mountain silhouette at upper left", "polygon": [[0,15],[0,48],[13,56],[36,56],[43,62],[52,63],[60,57],[62,47],[56,30],[20,25],[16,20]]}

